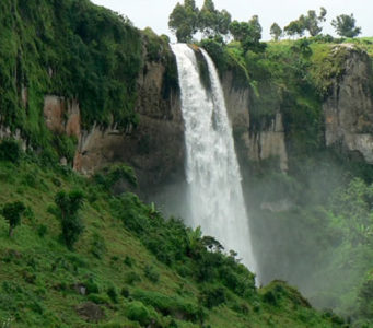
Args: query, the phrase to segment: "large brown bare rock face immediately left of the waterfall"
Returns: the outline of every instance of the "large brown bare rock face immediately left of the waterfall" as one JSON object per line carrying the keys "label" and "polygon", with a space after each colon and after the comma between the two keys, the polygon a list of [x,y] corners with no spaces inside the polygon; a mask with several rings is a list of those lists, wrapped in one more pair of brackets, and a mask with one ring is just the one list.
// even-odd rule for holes
{"label": "large brown bare rock face immediately left of the waterfall", "polygon": [[150,187],[184,172],[184,125],[179,96],[172,91],[162,96],[164,66],[145,63],[138,80],[137,129],[123,132],[95,126],[82,131],[74,168],[85,174],[115,162],[132,166],[139,186]]}

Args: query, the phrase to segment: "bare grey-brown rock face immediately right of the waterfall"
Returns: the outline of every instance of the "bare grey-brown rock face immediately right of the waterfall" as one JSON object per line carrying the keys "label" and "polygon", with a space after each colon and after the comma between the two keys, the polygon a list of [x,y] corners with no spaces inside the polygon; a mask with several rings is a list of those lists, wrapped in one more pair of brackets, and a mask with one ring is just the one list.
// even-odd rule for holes
{"label": "bare grey-brown rock face immediately right of the waterfall", "polygon": [[288,171],[288,153],[284,141],[282,115],[278,113],[268,128],[249,132],[249,89],[234,87],[232,72],[222,79],[225,104],[236,141],[241,163],[278,159],[282,172]]}

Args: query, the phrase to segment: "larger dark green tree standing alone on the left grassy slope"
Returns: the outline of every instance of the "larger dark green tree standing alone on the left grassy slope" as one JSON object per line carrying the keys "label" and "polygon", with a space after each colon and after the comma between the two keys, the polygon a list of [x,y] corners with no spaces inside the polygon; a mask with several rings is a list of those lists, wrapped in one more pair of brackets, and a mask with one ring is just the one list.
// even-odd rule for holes
{"label": "larger dark green tree standing alone on the left grassy slope", "polygon": [[58,219],[61,223],[62,237],[69,249],[73,248],[73,244],[78,241],[83,232],[83,224],[78,215],[78,211],[82,208],[84,201],[83,192],[74,190],[71,192],[59,191],[55,197],[58,206]]}

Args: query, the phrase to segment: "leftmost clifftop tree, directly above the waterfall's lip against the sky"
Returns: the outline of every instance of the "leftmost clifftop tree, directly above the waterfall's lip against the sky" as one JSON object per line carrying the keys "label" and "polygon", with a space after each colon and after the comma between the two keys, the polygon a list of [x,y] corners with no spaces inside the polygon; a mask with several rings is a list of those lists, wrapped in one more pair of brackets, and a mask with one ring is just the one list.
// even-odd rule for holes
{"label": "leftmost clifftop tree, directly above the waterfall's lip against the sky", "polygon": [[177,42],[187,43],[198,28],[199,10],[195,0],[185,0],[184,5],[177,3],[170,14],[168,27],[176,34]]}

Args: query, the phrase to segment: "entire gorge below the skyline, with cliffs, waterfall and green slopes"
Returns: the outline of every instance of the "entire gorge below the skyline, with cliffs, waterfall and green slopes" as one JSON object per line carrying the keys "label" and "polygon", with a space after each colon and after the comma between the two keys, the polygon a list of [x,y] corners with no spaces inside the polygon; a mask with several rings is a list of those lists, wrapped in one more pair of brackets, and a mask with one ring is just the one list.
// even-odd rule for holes
{"label": "entire gorge below the skyline, with cliffs, waterfall and green slopes", "polygon": [[171,47],[88,0],[0,19],[1,215],[25,207],[0,326],[371,325],[371,38]]}

